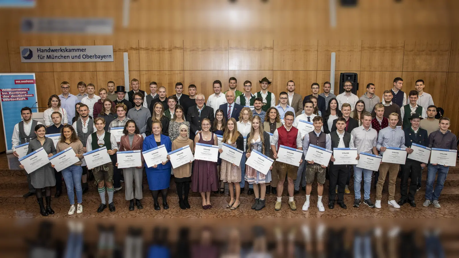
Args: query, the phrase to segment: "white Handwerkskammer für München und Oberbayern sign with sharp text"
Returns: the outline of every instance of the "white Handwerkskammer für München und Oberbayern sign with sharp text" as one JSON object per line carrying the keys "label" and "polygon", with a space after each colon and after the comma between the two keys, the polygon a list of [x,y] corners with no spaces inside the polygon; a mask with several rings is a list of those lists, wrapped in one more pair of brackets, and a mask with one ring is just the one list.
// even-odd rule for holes
{"label": "white Handwerkskammer f\u00fcr M\u00fcnchen und Oberbayern sign with sharp text", "polygon": [[21,62],[113,62],[113,46],[22,46]]}

